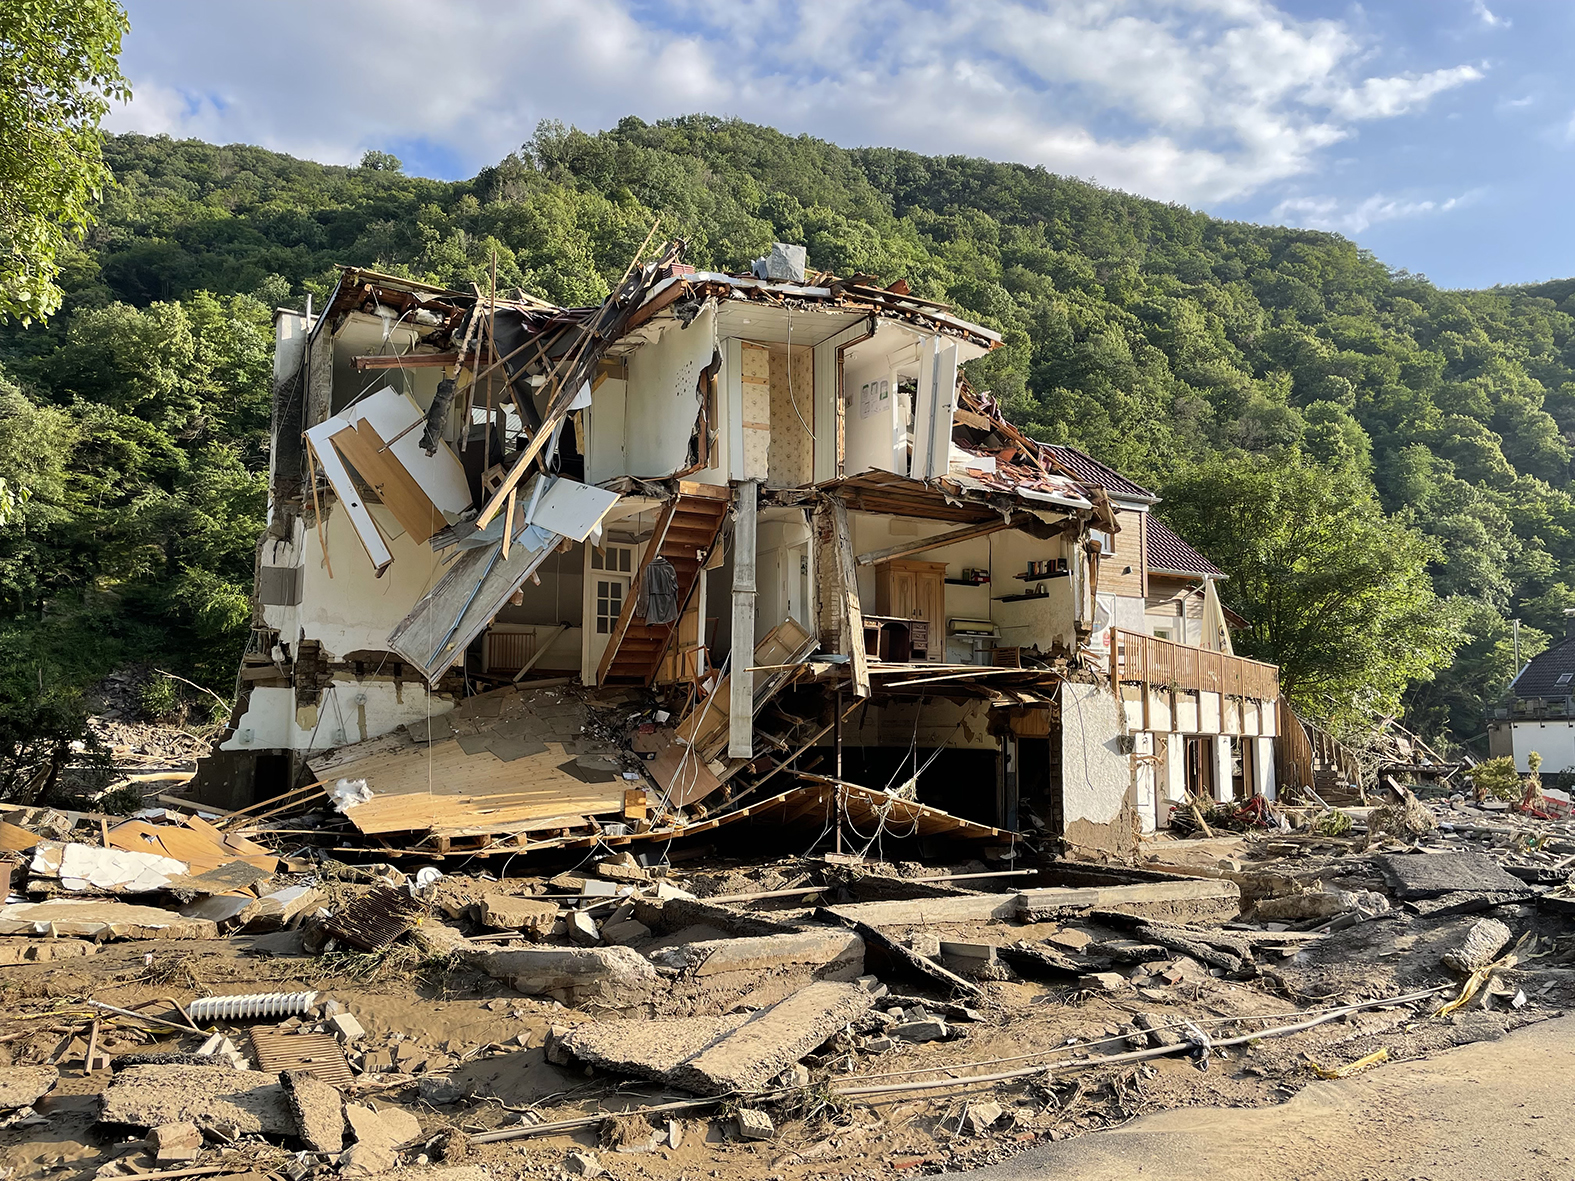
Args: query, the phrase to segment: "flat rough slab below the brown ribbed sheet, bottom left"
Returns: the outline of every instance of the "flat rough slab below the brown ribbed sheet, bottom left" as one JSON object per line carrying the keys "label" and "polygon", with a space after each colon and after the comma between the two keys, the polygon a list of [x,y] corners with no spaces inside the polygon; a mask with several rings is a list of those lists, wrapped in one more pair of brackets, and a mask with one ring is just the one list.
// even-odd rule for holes
{"label": "flat rough slab below the brown ribbed sheet, bottom left", "polygon": [[295,1135],[277,1074],[228,1066],[128,1066],[101,1098],[99,1120],[109,1124],[158,1127],[194,1123],[203,1131]]}

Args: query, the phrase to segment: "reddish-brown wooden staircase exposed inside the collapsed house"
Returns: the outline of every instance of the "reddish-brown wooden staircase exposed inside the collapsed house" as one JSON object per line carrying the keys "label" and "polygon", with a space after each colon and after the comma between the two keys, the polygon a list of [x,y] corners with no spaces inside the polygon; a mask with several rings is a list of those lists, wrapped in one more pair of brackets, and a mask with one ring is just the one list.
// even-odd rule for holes
{"label": "reddish-brown wooden staircase exposed inside the collapsed house", "polygon": [[[624,600],[624,609],[613,625],[602,663],[597,665],[595,680],[598,685],[649,685],[655,679],[662,657],[673,641],[673,633],[699,587],[706,561],[721,539],[721,526],[728,520],[731,504],[732,491],[729,488],[710,483],[679,483],[677,494],[666,502],[657,518],[657,528],[639,559],[639,570],[630,586],[628,598]],[[677,575],[679,614],[671,624],[650,625],[635,616],[646,567],[655,557],[666,557]]]}

